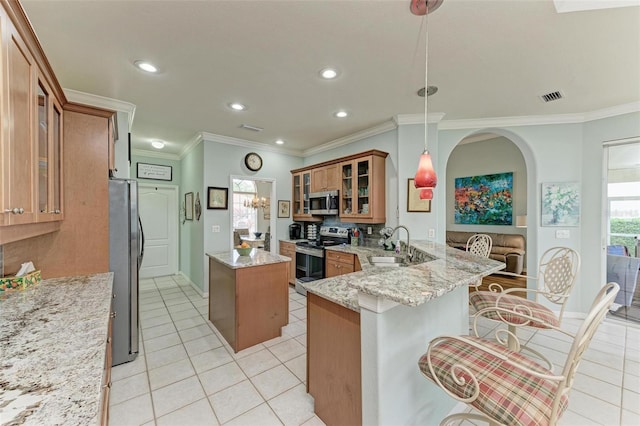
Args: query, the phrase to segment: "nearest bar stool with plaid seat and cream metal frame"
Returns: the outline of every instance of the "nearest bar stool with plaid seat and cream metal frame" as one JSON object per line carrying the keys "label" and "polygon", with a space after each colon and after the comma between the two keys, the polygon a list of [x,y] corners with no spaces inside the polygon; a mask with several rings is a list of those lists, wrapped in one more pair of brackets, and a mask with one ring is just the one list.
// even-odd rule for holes
{"label": "nearest bar stool with plaid seat and cream metal frame", "polygon": [[[558,375],[492,340],[477,336],[433,339],[418,361],[420,371],[449,396],[480,412],[452,414],[440,424],[475,419],[492,425],[555,425],[567,408],[580,359],[619,290],[618,284],[608,283],[598,292],[575,335],[546,325],[573,338]],[[532,320],[526,314],[511,315]]]}

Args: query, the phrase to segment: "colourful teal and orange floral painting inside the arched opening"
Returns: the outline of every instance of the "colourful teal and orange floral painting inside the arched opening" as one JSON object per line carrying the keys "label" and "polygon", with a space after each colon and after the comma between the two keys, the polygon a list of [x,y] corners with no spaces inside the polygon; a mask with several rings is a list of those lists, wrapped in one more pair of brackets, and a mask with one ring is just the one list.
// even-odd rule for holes
{"label": "colourful teal and orange floral painting inside the arched opening", "polygon": [[511,225],[513,172],[455,178],[454,223]]}

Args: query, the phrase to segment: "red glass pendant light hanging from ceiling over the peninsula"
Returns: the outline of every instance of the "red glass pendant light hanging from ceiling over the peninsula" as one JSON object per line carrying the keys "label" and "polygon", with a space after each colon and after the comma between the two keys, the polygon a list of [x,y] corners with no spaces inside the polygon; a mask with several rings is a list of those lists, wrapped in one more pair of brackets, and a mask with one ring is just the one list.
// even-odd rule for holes
{"label": "red glass pendant light hanging from ceiling over the peninsula", "polygon": [[[418,171],[414,177],[414,185],[420,190],[420,199],[431,200],[433,199],[433,189],[438,183],[438,177],[436,171],[433,169],[433,162],[431,161],[431,154],[427,149],[429,128],[428,128],[428,111],[429,111],[429,26],[428,16],[430,12],[436,10],[444,0],[411,0],[409,9],[414,15],[424,15],[425,19],[425,59],[424,59],[424,152],[420,155],[420,162],[418,163]],[[435,91],[433,92],[435,93]]]}

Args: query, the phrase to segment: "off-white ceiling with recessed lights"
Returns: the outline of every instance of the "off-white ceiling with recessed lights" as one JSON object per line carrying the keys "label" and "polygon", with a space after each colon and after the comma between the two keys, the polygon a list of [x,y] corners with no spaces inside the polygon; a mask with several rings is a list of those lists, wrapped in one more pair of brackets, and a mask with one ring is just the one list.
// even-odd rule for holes
{"label": "off-white ceiling with recessed lights", "polygon": [[[136,105],[134,149],[161,139],[179,155],[208,132],[304,154],[424,114],[425,24],[409,0],[21,2],[65,89]],[[552,0],[446,0],[428,27],[439,88],[429,111],[444,120],[640,101],[638,6],[557,13]],[[160,72],[136,69],[139,59]],[[326,66],[338,78],[321,80]],[[539,98],[554,91],[564,98]],[[248,109],[232,111],[234,101]],[[350,116],[334,117],[339,109]]]}

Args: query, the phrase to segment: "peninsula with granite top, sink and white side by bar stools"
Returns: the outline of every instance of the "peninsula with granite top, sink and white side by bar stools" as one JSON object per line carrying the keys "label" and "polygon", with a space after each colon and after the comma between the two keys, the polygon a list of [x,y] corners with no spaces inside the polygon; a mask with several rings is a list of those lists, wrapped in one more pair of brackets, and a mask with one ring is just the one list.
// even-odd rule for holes
{"label": "peninsula with granite top, sink and white side by bar stools", "polygon": [[362,271],[304,284],[307,389],[327,424],[434,424],[455,405],[418,359],[434,337],[468,334],[468,285],[504,263],[431,241],[411,247],[412,262],[394,268],[370,263],[394,256],[378,247],[329,247],[357,255]]}

